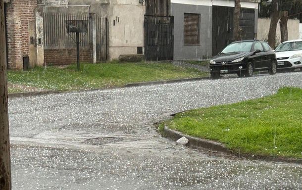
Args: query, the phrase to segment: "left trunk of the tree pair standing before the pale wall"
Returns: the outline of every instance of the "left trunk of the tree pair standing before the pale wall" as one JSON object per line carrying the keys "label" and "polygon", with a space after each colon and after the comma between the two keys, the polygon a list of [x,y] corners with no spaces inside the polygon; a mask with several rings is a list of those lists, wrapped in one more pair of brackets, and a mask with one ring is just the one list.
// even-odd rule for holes
{"label": "left trunk of the tree pair standing before the pale wall", "polygon": [[271,16],[269,32],[268,32],[268,44],[273,49],[276,46],[276,29],[278,24],[278,0],[272,0],[273,2],[273,12]]}

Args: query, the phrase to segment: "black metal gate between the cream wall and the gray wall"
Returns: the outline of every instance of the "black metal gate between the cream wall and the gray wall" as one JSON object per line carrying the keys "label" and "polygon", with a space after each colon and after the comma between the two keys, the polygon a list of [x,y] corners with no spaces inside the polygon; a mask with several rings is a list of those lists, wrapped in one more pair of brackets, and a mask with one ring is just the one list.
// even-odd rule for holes
{"label": "black metal gate between the cream wall and the gray wall", "polygon": [[145,15],[147,60],[173,60],[174,16]]}

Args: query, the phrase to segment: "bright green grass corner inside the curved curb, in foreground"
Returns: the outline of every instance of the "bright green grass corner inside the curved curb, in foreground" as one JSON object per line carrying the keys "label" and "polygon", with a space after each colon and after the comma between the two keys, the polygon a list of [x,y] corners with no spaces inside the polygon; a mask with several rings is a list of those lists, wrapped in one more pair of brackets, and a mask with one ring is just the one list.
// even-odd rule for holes
{"label": "bright green grass corner inside the curved curb, in foreground", "polygon": [[302,89],[200,108],[165,124],[184,134],[224,143],[235,152],[302,158]]}

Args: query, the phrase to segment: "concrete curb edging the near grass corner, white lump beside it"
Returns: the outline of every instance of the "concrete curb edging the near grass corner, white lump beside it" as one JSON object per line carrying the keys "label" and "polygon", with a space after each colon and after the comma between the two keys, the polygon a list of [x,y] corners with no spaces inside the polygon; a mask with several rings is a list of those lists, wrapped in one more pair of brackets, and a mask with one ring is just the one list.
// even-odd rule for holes
{"label": "concrete curb edging the near grass corner, white lump beside it", "polygon": [[228,149],[226,146],[224,146],[220,142],[215,141],[209,141],[204,139],[199,139],[195,137],[190,137],[188,135],[184,135],[178,131],[168,129],[166,126],[163,130],[163,136],[166,138],[169,138],[173,141],[177,141],[178,139],[185,137],[189,140],[188,145],[191,148],[206,148],[212,151],[219,151],[226,153],[226,157],[237,157],[237,158],[247,158],[251,160],[264,160],[264,161],[273,161],[273,162],[287,162],[287,163],[296,163],[296,164],[302,164],[302,159],[297,158],[286,158],[286,157],[272,157],[272,156],[263,156],[263,155],[252,155],[252,154],[235,154],[230,149]]}

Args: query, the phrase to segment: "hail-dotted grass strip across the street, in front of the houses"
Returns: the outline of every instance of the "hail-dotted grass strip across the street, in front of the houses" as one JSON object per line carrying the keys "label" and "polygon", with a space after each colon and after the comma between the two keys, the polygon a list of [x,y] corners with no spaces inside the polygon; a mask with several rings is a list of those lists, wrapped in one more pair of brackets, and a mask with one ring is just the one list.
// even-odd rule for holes
{"label": "hail-dotted grass strip across the street, in front of the houses", "polygon": [[8,82],[41,89],[71,91],[121,87],[129,83],[195,78],[208,73],[176,67],[171,63],[100,63],[65,68],[35,67],[30,71],[8,71]]}

